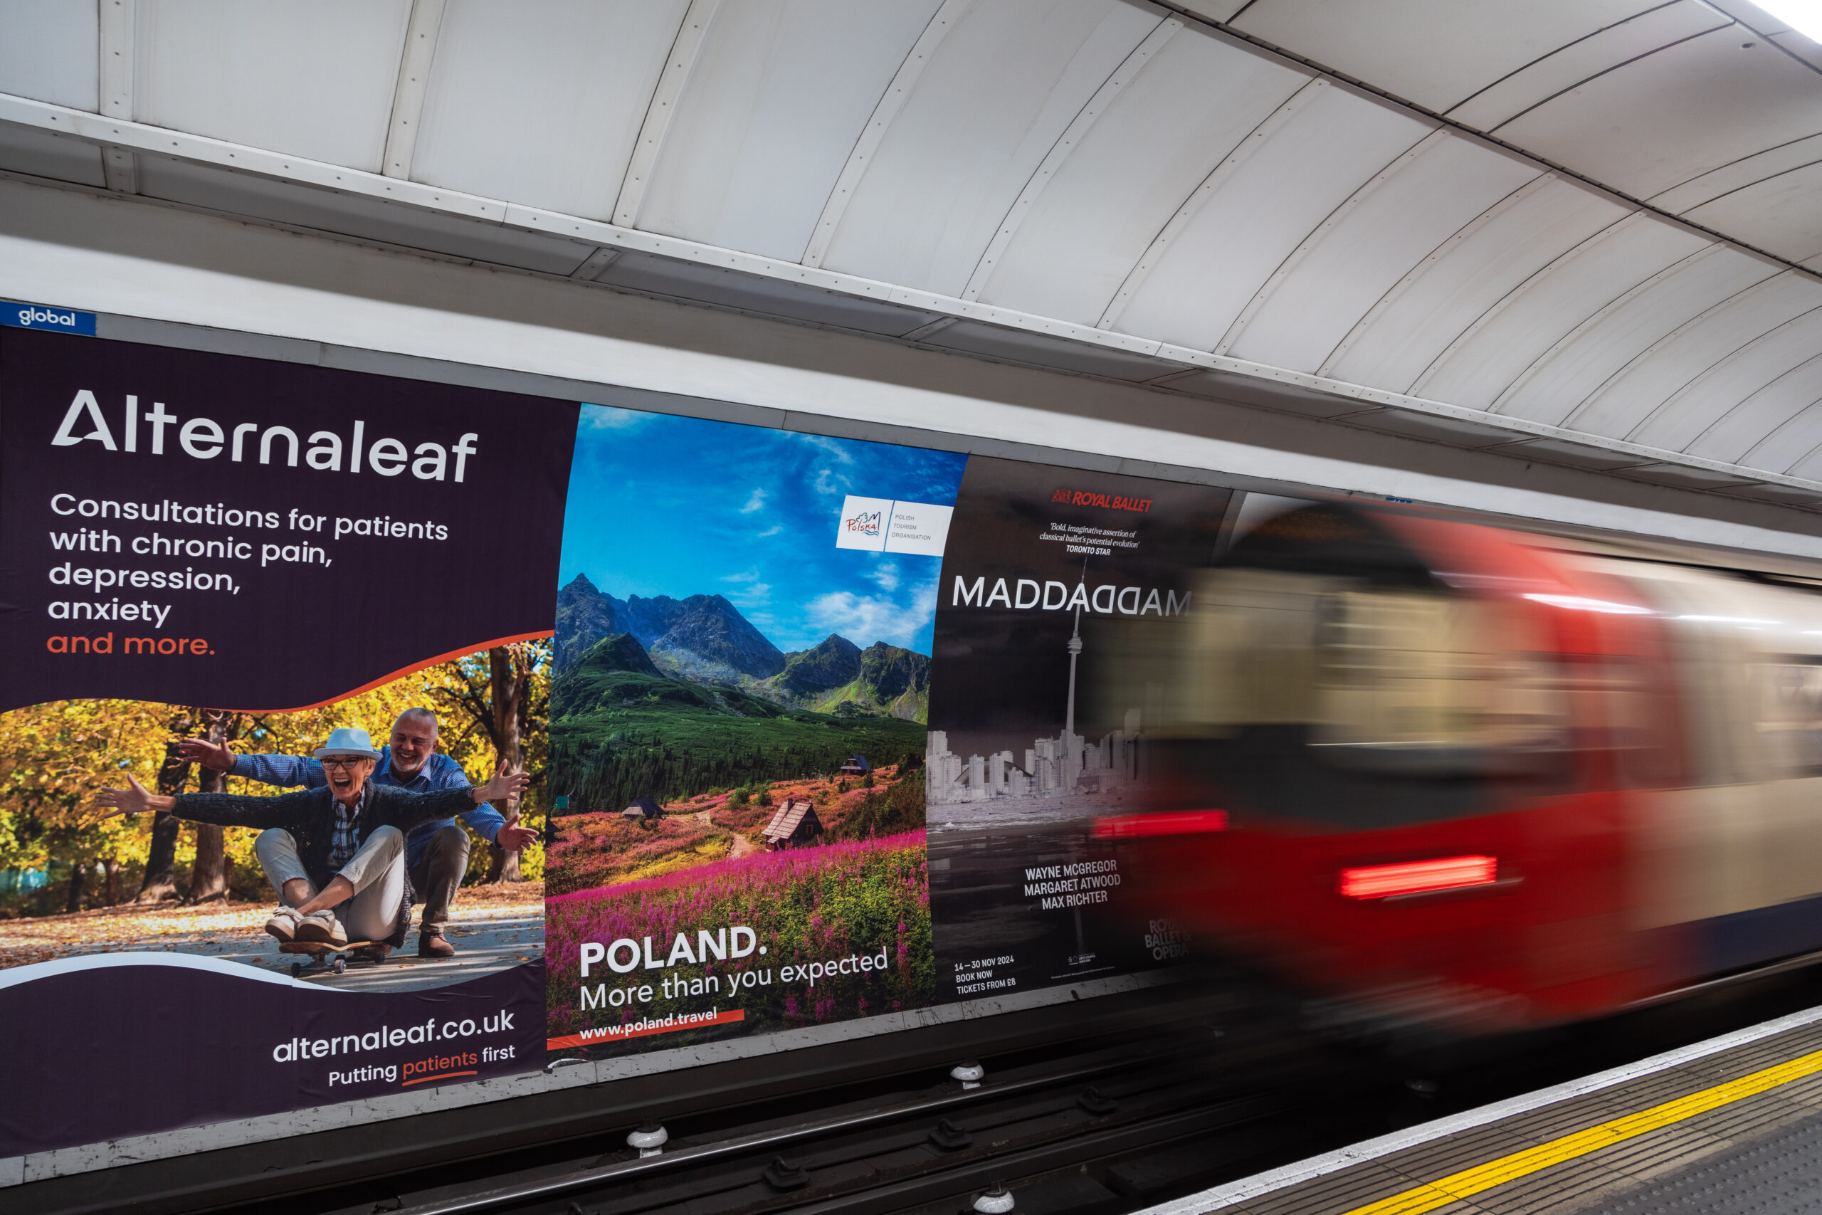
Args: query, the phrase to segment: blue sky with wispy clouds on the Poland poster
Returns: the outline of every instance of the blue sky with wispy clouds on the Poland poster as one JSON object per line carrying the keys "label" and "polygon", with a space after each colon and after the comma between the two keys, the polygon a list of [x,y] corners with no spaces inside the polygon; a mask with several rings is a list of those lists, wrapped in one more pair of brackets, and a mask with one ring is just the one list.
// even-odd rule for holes
{"label": "blue sky with wispy clouds on the Poland poster", "polygon": [[836,548],[847,494],[955,505],[966,455],[581,406],[559,585],[725,596],[782,650],[931,650],[940,557]]}

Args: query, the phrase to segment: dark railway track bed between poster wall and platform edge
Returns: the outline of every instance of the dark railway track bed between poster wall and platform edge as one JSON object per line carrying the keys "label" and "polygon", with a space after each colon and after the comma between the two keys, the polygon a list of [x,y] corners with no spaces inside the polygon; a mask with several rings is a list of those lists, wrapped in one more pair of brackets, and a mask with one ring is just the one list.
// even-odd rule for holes
{"label": "dark railway track bed between poster wall and platform edge", "polygon": [[[1190,1002],[1126,1035],[984,1057],[978,1086],[940,1066],[736,1109],[656,1108],[658,1155],[641,1157],[619,1126],[217,1210],[991,1215],[1011,1202],[1013,1215],[1119,1215],[1818,1000],[1822,973],[1766,976],[1707,1000],[1427,1058],[1294,1033],[1264,1004],[1226,1000],[1210,1013]],[[650,1138],[647,1129],[641,1142]]]}

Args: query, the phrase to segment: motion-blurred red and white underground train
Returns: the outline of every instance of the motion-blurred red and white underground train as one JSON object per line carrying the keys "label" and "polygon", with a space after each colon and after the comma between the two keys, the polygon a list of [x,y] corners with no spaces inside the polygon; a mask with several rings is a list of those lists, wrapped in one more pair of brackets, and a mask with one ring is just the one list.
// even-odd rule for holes
{"label": "motion-blurred red and white underground train", "polygon": [[1336,1016],[1565,1022],[1822,951],[1800,585],[1317,505],[1108,667],[1153,803],[1095,832]]}

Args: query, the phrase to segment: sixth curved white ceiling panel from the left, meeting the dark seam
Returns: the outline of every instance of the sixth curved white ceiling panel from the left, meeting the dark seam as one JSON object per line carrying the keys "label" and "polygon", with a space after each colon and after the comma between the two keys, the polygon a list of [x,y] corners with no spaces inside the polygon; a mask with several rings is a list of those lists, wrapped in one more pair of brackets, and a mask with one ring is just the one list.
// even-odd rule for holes
{"label": "sixth curved white ceiling panel from the left, meeting the dark seam", "polygon": [[1308,82],[1310,73],[1184,27],[1026,208],[980,301],[1095,324],[1203,179]]}

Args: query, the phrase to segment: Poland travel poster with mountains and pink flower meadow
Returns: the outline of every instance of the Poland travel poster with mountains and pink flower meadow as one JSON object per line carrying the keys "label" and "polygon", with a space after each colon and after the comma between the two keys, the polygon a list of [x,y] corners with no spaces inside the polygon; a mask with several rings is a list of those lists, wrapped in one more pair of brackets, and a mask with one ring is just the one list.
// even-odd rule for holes
{"label": "Poland travel poster with mountains and pink flower meadow", "polygon": [[583,406],[550,690],[552,1051],[937,998],[922,761],[964,463]]}

